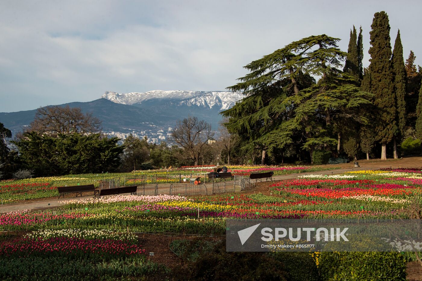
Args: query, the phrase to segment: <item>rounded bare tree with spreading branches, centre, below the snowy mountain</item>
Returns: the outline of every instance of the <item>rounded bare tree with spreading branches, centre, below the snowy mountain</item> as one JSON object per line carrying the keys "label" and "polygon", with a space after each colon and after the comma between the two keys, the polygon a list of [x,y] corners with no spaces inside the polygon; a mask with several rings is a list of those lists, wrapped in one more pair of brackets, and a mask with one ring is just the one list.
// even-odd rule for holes
{"label": "rounded bare tree with spreading branches, centre, below the snowy mountain", "polygon": [[192,159],[195,165],[198,165],[199,159],[208,146],[208,140],[213,136],[211,124],[204,120],[199,121],[195,116],[188,116],[177,121],[170,141],[181,146],[185,151],[186,158]]}

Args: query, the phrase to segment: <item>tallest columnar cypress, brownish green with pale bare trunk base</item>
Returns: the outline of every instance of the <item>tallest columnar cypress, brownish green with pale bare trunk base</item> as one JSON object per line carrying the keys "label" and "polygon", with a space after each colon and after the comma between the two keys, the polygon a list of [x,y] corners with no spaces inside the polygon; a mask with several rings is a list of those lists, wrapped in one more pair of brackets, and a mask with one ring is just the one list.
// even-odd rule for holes
{"label": "tallest columnar cypress, brownish green with pale bare trunk base", "polygon": [[384,11],[375,13],[371,27],[371,93],[376,97],[374,105],[379,108],[374,137],[381,143],[381,159],[387,159],[387,143],[395,132],[395,97],[390,62],[392,52],[387,14]]}

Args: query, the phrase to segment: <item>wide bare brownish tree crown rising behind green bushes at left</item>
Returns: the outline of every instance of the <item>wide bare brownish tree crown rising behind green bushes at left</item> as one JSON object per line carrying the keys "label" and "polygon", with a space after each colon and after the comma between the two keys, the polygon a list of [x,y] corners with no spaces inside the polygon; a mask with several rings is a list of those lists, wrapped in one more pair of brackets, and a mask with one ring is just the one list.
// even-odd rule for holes
{"label": "wide bare brownish tree crown rising behind green bushes at left", "polygon": [[101,121],[92,113],[82,113],[81,108],[51,105],[38,108],[29,131],[58,134],[77,132],[81,134],[101,132]]}

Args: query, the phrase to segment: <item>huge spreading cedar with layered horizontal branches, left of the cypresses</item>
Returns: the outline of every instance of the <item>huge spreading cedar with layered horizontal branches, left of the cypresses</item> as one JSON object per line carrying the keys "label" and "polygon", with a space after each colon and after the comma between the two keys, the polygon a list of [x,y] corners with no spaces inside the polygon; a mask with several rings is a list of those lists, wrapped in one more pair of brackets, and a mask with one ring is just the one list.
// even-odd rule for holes
{"label": "huge spreading cedar with layered horizontal branches, left of the cypresses", "polygon": [[[225,126],[249,148],[283,149],[295,143],[309,151],[337,143],[335,127],[356,119],[357,108],[368,101],[356,78],[341,72],[346,53],[339,39],[327,35],[295,41],[246,65],[251,73],[228,87],[246,97],[223,111]],[[310,75],[322,76],[314,84]]]}

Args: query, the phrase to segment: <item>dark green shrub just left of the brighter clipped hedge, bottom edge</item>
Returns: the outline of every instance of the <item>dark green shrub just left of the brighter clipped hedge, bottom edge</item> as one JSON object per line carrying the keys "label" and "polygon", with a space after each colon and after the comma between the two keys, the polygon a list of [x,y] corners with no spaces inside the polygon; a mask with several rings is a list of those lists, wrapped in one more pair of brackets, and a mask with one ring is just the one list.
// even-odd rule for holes
{"label": "dark green shrub just left of the brighter clipped hedge, bottom edge", "polygon": [[318,268],[314,258],[305,252],[269,253],[270,257],[284,264],[289,281],[319,281]]}

